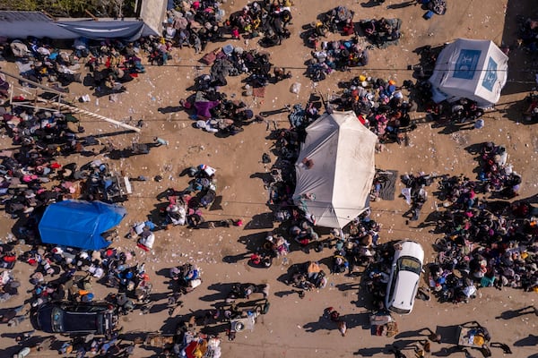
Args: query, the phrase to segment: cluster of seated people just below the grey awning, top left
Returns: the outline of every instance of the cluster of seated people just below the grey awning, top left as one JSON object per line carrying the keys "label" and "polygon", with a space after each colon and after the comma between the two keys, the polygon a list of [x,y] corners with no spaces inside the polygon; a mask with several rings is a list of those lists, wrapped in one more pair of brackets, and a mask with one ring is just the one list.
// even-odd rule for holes
{"label": "cluster of seated people just below the grey awning, top left", "polygon": [[[10,48],[20,63],[23,78],[38,83],[49,82],[51,88],[63,92],[69,91],[67,86],[72,82],[82,82],[96,89],[97,96],[121,92],[125,90],[123,83],[145,72],[140,57],[142,51],[150,55],[151,62],[152,58],[159,57],[156,53],[162,52],[159,38],[154,37],[139,38],[134,42],[77,38],[70,52],[57,49],[46,38],[27,38],[25,41],[14,40]],[[85,78],[82,78],[82,62],[90,72]]]}

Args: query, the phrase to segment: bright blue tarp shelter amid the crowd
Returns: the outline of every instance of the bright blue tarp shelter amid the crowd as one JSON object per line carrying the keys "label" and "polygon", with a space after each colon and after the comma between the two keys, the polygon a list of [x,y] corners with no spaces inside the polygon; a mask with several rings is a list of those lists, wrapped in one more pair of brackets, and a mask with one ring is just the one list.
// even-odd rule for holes
{"label": "bright blue tarp shelter amid the crowd", "polygon": [[39,234],[43,243],[100,250],[109,244],[101,234],[125,216],[125,208],[100,201],[60,201],[45,209]]}

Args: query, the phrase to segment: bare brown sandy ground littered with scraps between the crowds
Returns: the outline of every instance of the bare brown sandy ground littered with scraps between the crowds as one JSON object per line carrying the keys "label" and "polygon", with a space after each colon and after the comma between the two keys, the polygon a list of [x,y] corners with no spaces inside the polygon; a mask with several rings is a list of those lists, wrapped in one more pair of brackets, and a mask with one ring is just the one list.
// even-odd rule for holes
{"label": "bare brown sandy ground littered with scraps between the crowds", "polygon": [[[401,1],[387,0],[384,6],[369,7],[360,1],[342,1],[340,3],[322,0],[295,0],[293,9],[292,36],[282,43],[282,47],[273,47],[272,62],[291,68],[293,78],[282,81],[277,85],[269,85],[265,98],[243,98],[255,112],[280,108],[284,104],[305,103],[309,94],[315,90],[315,85],[304,77],[304,62],[310,57],[310,49],[303,46],[299,33],[301,27],[314,21],[318,13],[330,10],[337,4],[345,4],[356,12],[355,20],[367,18],[398,17],[403,20],[404,37],[398,47],[376,49],[370,53],[370,63],[365,68],[356,68],[351,72],[335,72],[326,81],[317,84],[317,89],[325,94],[337,90],[338,81],[350,80],[353,76],[364,73],[375,77],[392,78],[398,83],[411,78],[407,71],[408,64],[417,64],[418,58],[412,51],[424,45],[438,45],[454,38],[488,38],[497,44],[504,42],[515,44],[516,14],[530,13],[534,1],[508,0],[452,0],[448,1],[447,14],[434,16],[426,21],[421,18],[425,13],[420,6],[407,6],[386,9],[386,5],[401,4]],[[229,1],[234,10],[244,4]],[[397,7],[397,6],[395,6]],[[255,40],[235,41],[234,45],[245,48],[257,48]],[[222,43],[224,45],[226,43]],[[217,47],[210,44],[208,49]],[[266,207],[267,192],[258,178],[252,178],[256,173],[265,173],[269,167],[261,164],[261,156],[269,152],[272,141],[266,137],[269,132],[265,124],[252,124],[239,135],[219,139],[207,132],[192,128],[192,121],[186,113],[177,112],[161,114],[160,107],[178,106],[180,98],[186,98],[190,92],[186,89],[192,85],[196,75],[208,72],[207,68],[198,67],[199,55],[194,55],[190,49],[177,51],[169,65],[163,67],[148,66],[146,74],[127,85],[128,93],[118,96],[113,103],[108,98],[100,98],[99,103],[92,98],[91,103],[80,107],[108,115],[116,119],[133,118],[133,123],[143,118],[143,132],[122,133],[121,129],[102,122],[92,122],[82,118],[87,134],[97,134],[101,140],[113,141],[119,148],[127,147],[132,141],[150,142],[153,136],[159,135],[169,141],[169,147],[152,149],[147,156],[107,160],[108,164],[127,175],[138,176],[162,175],[164,180],[156,182],[134,183],[134,194],[126,201],[128,210],[126,219],[120,226],[120,233],[126,234],[134,221],[143,220],[156,206],[162,204],[157,199],[158,193],[169,187],[183,189],[187,185],[184,177],[178,173],[187,166],[207,164],[217,168],[218,193],[222,195],[222,210],[209,211],[205,214],[208,220],[241,217],[245,226],[233,228],[216,228],[208,230],[189,230],[184,227],[174,227],[169,231],[157,233],[157,240],[152,252],[142,252],[134,248],[134,243],[121,239],[114,246],[123,249],[133,249],[137,252],[137,260],[146,262],[150,270],[154,293],[166,293],[167,278],[157,274],[161,268],[170,268],[179,263],[195,262],[203,269],[204,284],[195,292],[184,297],[185,307],[180,315],[190,311],[206,310],[212,307],[216,300],[221,300],[223,294],[220,288],[232,282],[269,283],[271,311],[258,320],[253,332],[239,334],[233,342],[223,340],[222,356],[224,357],[349,357],[376,356],[384,357],[386,346],[395,341],[400,345],[416,341],[413,330],[429,327],[443,328],[463,323],[468,320],[479,320],[490,329],[493,341],[506,342],[512,346],[513,356],[537,357],[536,334],[538,318],[525,315],[511,320],[496,319],[503,311],[516,310],[529,304],[534,304],[536,294],[525,294],[504,288],[497,291],[493,288],[482,289],[480,296],[468,304],[439,304],[435,301],[428,303],[418,301],[409,316],[398,317],[401,336],[386,338],[372,337],[366,326],[368,323],[368,300],[360,292],[358,278],[331,276],[329,286],[319,292],[308,293],[304,300],[298,294],[290,294],[289,286],[285,286],[277,278],[287,271],[287,266],[275,264],[269,269],[257,269],[247,266],[247,260],[237,260],[236,263],[223,261],[224,257],[236,256],[250,252],[262,243],[265,233],[273,228],[270,211]],[[521,124],[521,100],[525,91],[530,90],[534,74],[525,72],[528,58],[522,51],[514,49],[510,54],[509,83],[506,93],[500,100],[497,110],[485,116],[486,126],[480,131],[462,131],[445,133],[442,129],[431,128],[430,124],[420,124],[419,128],[410,133],[408,147],[397,144],[387,145],[386,149],[377,154],[377,167],[398,170],[400,174],[416,173],[418,171],[435,172],[438,174],[472,175],[477,166],[473,156],[465,147],[482,141],[494,141],[508,148],[509,162],[515,170],[523,175],[521,198],[531,197],[538,192],[536,177],[538,169],[538,137],[536,124]],[[10,64],[7,64],[9,67]],[[230,84],[221,90],[241,96],[240,78],[230,78]],[[293,82],[299,81],[302,90],[299,95],[290,93]],[[72,96],[87,93],[82,87],[72,86]],[[417,114],[420,117],[421,114]],[[273,119],[279,127],[287,127],[286,115],[274,115]],[[3,148],[10,146],[8,139],[3,139]],[[101,157],[99,157],[101,158]],[[84,163],[88,158],[65,158],[64,164],[70,161]],[[401,183],[397,184],[397,192]],[[431,192],[431,189],[430,189]],[[426,217],[434,208],[435,199],[425,205],[421,219]],[[383,241],[411,238],[423,244],[427,250],[427,261],[433,260],[432,241],[436,238],[428,233],[428,229],[406,226],[402,214],[407,210],[404,200],[375,202],[372,206],[373,217],[382,224]],[[7,235],[13,222],[3,214],[1,217],[0,235]],[[23,247],[21,249],[24,249]],[[306,260],[319,260],[329,257],[331,252],[321,253],[312,251],[309,255],[303,251],[293,251],[290,263]],[[26,298],[26,289],[30,288],[28,277],[30,267],[18,263],[13,273],[22,281],[22,294],[12,302],[3,303],[4,307],[12,307]],[[106,291],[97,289],[98,297],[104,297]],[[341,312],[348,324],[347,337],[341,337],[330,321],[322,318],[323,311],[328,306],[334,306]],[[166,301],[158,302],[150,315],[139,315],[137,311],[122,318],[126,332],[167,331],[181,318],[168,318]],[[1,356],[10,356],[19,348],[14,346],[13,334],[30,330],[30,323],[24,322],[18,328],[0,327],[3,332],[0,338],[0,349],[5,349]],[[411,333],[409,333],[411,332]],[[452,337],[446,337],[447,343]],[[463,353],[451,354],[447,351],[448,344],[433,344],[432,355],[463,357]],[[8,354],[6,354],[8,353]],[[152,350],[137,348],[136,357],[149,357],[155,354]],[[408,351],[408,356],[412,352]],[[479,354],[479,353],[475,353]],[[40,354],[41,356],[56,356],[55,352]],[[493,351],[494,357],[502,356],[499,349]]]}

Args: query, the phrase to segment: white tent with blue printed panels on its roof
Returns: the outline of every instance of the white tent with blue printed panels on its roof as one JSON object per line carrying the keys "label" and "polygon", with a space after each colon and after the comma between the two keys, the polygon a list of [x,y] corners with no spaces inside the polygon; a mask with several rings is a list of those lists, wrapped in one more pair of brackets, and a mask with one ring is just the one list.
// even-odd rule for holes
{"label": "white tent with blue printed panels on its roof", "polygon": [[508,56],[492,41],[458,38],[438,55],[429,81],[435,102],[469,98],[491,107],[507,78]]}

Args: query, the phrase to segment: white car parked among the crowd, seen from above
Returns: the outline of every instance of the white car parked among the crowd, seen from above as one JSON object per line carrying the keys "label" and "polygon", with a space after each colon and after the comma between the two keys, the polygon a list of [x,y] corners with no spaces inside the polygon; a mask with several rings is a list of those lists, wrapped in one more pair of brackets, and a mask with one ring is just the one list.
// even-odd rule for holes
{"label": "white car parked among the crowd, seen from above", "polygon": [[386,286],[386,309],[399,314],[411,313],[423,260],[424,250],[420,243],[402,241],[395,244],[395,257]]}

